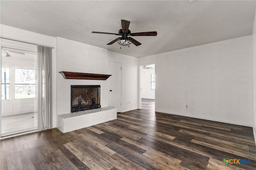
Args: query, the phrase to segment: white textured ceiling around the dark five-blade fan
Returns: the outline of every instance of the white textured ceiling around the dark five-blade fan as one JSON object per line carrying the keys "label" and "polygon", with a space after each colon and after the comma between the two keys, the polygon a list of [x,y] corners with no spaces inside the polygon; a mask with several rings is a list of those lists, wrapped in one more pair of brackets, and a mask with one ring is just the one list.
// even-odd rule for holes
{"label": "white textured ceiling around the dark five-blade fan", "polygon": [[[192,1],[191,1],[192,2]],[[144,57],[252,34],[256,1],[0,1],[0,23]],[[142,45],[114,43],[121,19],[132,33],[157,31],[156,37],[133,37]]]}

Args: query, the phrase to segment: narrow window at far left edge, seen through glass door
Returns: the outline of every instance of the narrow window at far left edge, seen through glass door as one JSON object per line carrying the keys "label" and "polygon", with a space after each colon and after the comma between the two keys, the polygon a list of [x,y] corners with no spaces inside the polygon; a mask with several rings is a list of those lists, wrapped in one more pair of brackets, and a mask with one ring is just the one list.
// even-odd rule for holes
{"label": "narrow window at far left edge, seen through glass door", "polygon": [[10,73],[9,68],[2,67],[2,100],[9,100]]}

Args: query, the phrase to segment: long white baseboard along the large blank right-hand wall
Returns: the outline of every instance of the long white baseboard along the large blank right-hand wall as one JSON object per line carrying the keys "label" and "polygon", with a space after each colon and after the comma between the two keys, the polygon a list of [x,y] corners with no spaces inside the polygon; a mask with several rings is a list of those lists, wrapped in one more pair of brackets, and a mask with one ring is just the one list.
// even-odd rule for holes
{"label": "long white baseboard along the large blank right-hand wall", "polygon": [[187,115],[187,114],[174,113],[174,112],[163,111],[163,110],[156,110],[156,112],[168,113],[168,114],[173,114],[173,115],[180,115],[180,116],[186,116],[186,117],[193,117],[193,118],[197,118],[197,119],[204,119],[204,120],[210,120],[210,121],[218,121],[218,122],[222,122],[222,123],[230,123],[230,124],[234,124],[234,125],[241,125],[241,126],[252,127],[252,125],[250,125],[248,123],[241,123],[241,122],[228,121],[228,120],[222,120],[222,119],[214,119],[214,118],[201,117],[201,116],[195,116],[195,115]]}

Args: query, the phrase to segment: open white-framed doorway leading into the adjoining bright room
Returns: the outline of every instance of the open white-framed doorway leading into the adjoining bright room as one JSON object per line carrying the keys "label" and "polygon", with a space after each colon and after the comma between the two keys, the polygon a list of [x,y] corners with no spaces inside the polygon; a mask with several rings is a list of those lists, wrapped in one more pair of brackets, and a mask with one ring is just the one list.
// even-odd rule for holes
{"label": "open white-framed doorway leading into the adjoining bright room", "polygon": [[156,74],[155,64],[143,64],[140,70],[140,98],[139,109],[142,108],[142,100],[155,102]]}

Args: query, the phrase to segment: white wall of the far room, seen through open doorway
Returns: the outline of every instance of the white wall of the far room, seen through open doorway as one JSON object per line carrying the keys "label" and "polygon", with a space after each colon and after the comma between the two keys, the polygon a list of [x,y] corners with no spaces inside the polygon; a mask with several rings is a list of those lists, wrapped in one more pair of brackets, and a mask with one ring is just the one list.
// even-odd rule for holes
{"label": "white wall of the far room, seen through open doorway", "polygon": [[155,69],[146,71],[140,69],[140,95],[144,99],[155,99],[155,90],[150,86],[150,75],[155,74]]}

